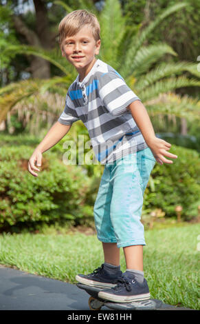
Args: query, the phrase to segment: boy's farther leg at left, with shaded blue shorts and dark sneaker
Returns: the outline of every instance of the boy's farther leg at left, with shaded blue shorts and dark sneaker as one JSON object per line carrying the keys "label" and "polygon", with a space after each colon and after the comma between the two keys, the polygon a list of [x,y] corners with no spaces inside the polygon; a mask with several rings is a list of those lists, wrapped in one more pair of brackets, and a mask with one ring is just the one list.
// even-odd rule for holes
{"label": "boy's farther leg at left, with shaded blue shorts and dark sneaker", "polygon": [[110,170],[106,165],[98,196],[93,208],[98,239],[102,241],[104,250],[104,263],[91,274],[78,274],[76,280],[85,285],[94,287],[114,287],[118,278],[122,277],[120,271],[120,249],[117,247],[115,232],[110,219],[110,204],[112,198],[112,185],[109,181]]}

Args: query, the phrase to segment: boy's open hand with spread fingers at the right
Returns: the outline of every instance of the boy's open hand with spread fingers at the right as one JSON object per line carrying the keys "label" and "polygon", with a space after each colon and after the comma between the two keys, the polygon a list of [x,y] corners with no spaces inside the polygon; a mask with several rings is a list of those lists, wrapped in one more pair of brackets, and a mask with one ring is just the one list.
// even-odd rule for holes
{"label": "boy's open hand with spread fingers at the right", "polygon": [[151,148],[151,151],[157,163],[159,163],[160,165],[162,165],[163,163],[173,163],[173,161],[166,159],[165,156],[172,159],[177,159],[178,157],[177,155],[168,152],[168,150],[170,150],[171,144],[164,141],[164,139],[159,139],[155,136],[153,139],[148,141],[147,145],[149,148]]}

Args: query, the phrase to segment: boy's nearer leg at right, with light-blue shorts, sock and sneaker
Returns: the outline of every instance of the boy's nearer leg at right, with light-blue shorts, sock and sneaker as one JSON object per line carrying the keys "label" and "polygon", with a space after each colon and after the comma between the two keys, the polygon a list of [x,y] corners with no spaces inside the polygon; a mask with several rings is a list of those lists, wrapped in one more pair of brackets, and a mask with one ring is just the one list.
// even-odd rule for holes
{"label": "boy's nearer leg at right, with light-blue shorts, sock and sneaker", "polygon": [[126,303],[150,298],[143,273],[145,241],[140,216],[144,189],[155,164],[151,154],[149,150],[143,150],[137,155],[131,154],[131,161],[125,156],[122,164],[113,172],[111,221],[118,239],[118,247],[124,249],[127,269],[117,287],[111,288],[109,292],[103,290],[99,293],[100,298],[109,301]]}

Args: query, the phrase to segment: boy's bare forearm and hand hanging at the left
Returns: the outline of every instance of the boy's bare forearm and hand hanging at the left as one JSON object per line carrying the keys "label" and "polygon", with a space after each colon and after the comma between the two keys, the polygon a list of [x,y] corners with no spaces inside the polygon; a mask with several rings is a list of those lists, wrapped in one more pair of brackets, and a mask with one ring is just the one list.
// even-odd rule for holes
{"label": "boy's bare forearm and hand hanging at the left", "polygon": [[56,121],[52,128],[49,129],[44,139],[36,147],[32,156],[30,157],[30,160],[28,161],[27,169],[33,176],[38,176],[38,174],[34,171],[40,171],[38,168],[36,168],[36,165],[41,166],[43,152],[56,145],[60,139],[63,139],[63,136],[69,132],[70,128],[71,125],[63,125],[59,121]]}

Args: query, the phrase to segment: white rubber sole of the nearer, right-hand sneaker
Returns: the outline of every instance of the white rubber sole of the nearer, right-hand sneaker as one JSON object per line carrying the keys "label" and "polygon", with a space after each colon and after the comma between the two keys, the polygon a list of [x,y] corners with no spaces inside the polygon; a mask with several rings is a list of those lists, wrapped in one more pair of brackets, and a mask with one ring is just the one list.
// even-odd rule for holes
{"label": "white rubber sole of the nearer, right-hand sneaker", "polygon": [[132,301],[146,301],[146,299],[151,298],[151,295],[148,292],[147,294],[140,294],[135,296],[117,296],[109,294],[109,292],[99,292],[98,297],[107,301],[113,301],[115,303],[131,303]]}

